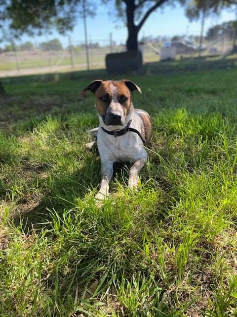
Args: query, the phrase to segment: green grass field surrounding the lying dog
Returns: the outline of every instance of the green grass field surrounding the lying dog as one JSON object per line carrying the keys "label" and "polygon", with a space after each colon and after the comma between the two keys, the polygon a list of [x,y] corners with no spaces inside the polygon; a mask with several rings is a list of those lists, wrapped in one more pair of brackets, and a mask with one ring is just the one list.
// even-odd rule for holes
{"label": "green grass field surrounding the lying dog", "polygon": [[153,119],[149,161],[138,192],[117,169],[101,208],[100,160],[85,151],[98,119],[80,92],[105,72],[4,81],[0,317],[237,316],[235,65],[129,76]]}

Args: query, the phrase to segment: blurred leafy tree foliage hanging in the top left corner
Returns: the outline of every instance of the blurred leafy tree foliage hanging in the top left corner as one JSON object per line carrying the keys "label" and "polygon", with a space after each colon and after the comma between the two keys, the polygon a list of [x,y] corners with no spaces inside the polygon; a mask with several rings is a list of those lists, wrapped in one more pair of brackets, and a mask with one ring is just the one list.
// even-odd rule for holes
{"label": "blurred leafy tree foliage hanging in the top left corner", "polygon": [[[96,1],[86,1],[86,15],[95,14]],[[19,38],[50,32],[72,30],[81,15],[82,0],[0,0],[0,28],[7,25],[7,37]],[[0,91],[1,93],[1,91]]]}

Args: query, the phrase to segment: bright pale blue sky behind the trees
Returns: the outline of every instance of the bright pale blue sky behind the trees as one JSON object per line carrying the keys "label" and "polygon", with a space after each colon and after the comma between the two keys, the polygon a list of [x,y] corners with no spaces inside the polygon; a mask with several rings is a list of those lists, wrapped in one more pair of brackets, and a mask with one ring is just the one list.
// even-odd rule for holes
{"label": "bright pale blue sky behind the trees", "polygon": [[[107,45],[109,43],[109,36],[112,33],[113,40],[117,43],[125,43],[127,37],[127,29],[123,21],[115,21],[115,16],[110,16],[106,5],[100,5],[96,9],[96,14],[93,18],[87,17],[87,33],[88,40],[92,42],[99,42],[100,45]],[[233,9],[222,9],[219,16],[211,16],[205,20],[204,32],[215,24],[224,21],[236,19],[236,12]],[[184,7],[176,5],[176,7],[164,6],[158,8],[146,20],[139,38],[142,36],[152,35],[157,36],[174,36],[174,35],[198,35],[200,33],[200,21],[190,22],[185,16]],[[77,22],[73,32],[68,33],[71,36],[72,44],[79,44],[84,42],[83,21],[80,18]],[[30,38],[23,36],[21,43],[25,41],[32,41],[34,44],[39,44],[53,38],[58,38],[64,47],[68,45],[68,37],[61,36],[56,31],[52,34]]]}

